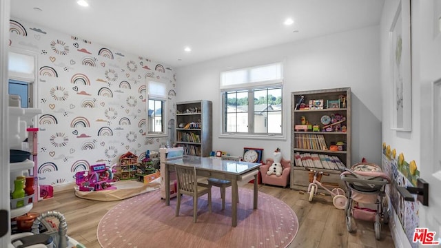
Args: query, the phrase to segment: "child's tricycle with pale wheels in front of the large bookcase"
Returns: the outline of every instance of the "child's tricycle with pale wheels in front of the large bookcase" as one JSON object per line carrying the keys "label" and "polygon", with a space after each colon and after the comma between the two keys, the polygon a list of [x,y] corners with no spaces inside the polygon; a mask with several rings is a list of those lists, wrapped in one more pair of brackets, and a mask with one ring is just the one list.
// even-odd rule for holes
{"label": "child's tricycle with pale wheels in front of the large bookcase", "polygon": [[336,187],[332,190],[327,189],[327,187],[323,186],[322,183],[320,183],[320,180],[323,175],[329,176],[329,173],[326,172],[320,172],[316,169],[306,168],[309,171],[309,186],[308,186],[308,193],[309,193],[309,201],[314,198],[314,195],[317,194],[317,188],[318,186],[325,189],[329,194],[331,194],[332,203],[334,206],[338,209],[345,209],[348,200],[345,196],[345,191],[339,187]]}

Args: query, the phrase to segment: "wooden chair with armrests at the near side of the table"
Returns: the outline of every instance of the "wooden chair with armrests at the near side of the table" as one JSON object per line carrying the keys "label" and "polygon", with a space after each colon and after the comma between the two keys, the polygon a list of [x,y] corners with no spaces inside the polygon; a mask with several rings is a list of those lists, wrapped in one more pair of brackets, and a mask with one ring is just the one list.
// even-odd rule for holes
{"label": "wooden chair with armrests at the near side of the table", "polygon": [[187,165],[174,165],[176,171],[178,200],[176,203],[176,216],[179,216],[181,208],[181,194],[193,196],[193,223],[198,218],[198,198],[208,194],[208,211],[212,212],[212,185],[198,183],[196,168]]}

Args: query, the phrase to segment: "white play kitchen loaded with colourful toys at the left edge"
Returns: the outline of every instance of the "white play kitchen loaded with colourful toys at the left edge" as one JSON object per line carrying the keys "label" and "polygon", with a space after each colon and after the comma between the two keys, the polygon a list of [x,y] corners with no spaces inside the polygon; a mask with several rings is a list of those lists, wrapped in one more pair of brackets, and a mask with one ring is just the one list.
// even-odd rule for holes
{"label": "white play kitchen loaded with colourful toys at the left edge", "polygon": [[[8,143],[5,145],[3,141],[6,147],[3,147],[2,154],[8,154],[9,147],[10,156],[9,163],[5,163],[3,156],[0,170],[0,247],[82,248],[83,245],[67,235],[68,225],[63,214],[57,211],[32,212],[33,204],[39,200],[39,190],[34,183],[37,174],[34,174],[32,144],[28,143],[28,135],[30,131],[37,131],[32,128],[32,120],[37,119],[42,111],[19,107],[16,97],[9,96],[8,111],[3,107],[2,112],[7,116],[3,120],[8,120]],[[5,123],[3,121],[3,126]],[[54,219],[58,223],[52,221]]]}

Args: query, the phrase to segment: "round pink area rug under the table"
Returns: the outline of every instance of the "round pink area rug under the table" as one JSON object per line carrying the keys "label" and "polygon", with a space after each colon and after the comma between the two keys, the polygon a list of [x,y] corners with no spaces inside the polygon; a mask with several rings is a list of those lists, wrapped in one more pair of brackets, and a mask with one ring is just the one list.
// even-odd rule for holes
{"label": "round pink area rug under the table", "polygon": [[101,219],[97,237],[105,248],[144,247],[287,247],[298,231],[296,213],[282,200],[259,192],[253,210],[253,192],[239,189],[238,225],[232,227],[231,187],[225,210],[217,187],[212,189],[212,213],[207,196],[198,199],[198,221],[193,223],[193,202],[181,198],[181,211],[174,216],[176,198],[165,206],[159,190],[124,200]]}

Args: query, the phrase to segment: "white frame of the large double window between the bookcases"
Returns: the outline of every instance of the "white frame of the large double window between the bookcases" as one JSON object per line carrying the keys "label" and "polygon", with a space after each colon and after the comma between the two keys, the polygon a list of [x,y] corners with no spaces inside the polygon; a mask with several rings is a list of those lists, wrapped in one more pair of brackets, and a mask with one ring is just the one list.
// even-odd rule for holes
{"label": "white frame of the large double window between the bookcases", "polygon": [[[262,67],[268,66],[268,65],[272,65],[272,64],[280,64],[281,66],[281,78],[280,79],[275,79],[275,80],[269,80],[269,81],[257,81],[257,82],[253,82],[253,83],[249,83],[249,82],[245,82],[245,83],[239,83],[237,85],[232,85],[232,84],[228,84],[228,85],[224,85],[223,86],[223,72],[220,73],[220,99],[221,99],[221,106],[220,106],[220,111],[221,111],[221,118],[222,118],[222,125],[221,125],[221,130],[220,130],[220,138],[257,138],[257,139],[277,139],[277,140],[286,140],[286,132],[285,132],[285,127],[286,127],[286,120],[285,120],[285,113],[287,111],[286,106],[287,104],[285,103],[285,94],[283,92],[283,63],[268,63],[266,65],[261,65]],[[250,70],[253,70],[255,68],[259,68],[259,66],[253,66],[253,67],[249,67],[249,68],[242,68],[242,69],[236,69],[236,70],[231,70],[228,72],[232,72],[232,71],[240,71],[240,70],[245,70],[247,73],[249,73]],[[250,76],[247,75],[247,78],[249,79]],[[256,133],[254,132],[254,126],[256,123],[254,123],[254,91],[255,90],[271,90],[271,89],[278,89],[280,88],[280,96],[282,97],[282,103],[280,106],[280,125],[281,125],[281,129],[280,129],[280,133],[271,133],[271,132],[267,132],[266,133]],[[248,130],[247,132],[227,132],[227,93],[229,92],[247,92],[247,96],[248,96],[248,109],[247,109],[247,114],[248,114]]]}

